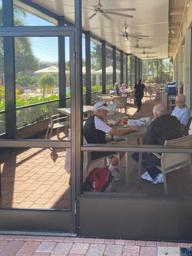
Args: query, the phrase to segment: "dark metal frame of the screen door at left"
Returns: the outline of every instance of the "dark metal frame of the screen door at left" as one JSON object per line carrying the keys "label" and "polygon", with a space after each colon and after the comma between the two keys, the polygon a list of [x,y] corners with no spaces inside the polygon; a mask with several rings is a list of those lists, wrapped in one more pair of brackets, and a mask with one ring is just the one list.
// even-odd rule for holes
{"label": "dark metal frame of the screen door at left", "polygon": [[[71,102],[76,98],[75,28],[74,27],[0,27],[2,37],[69,37]],[[6,71],[5,71],[6,72]],[[37,233],[76,236],[76,108],[71,104],[71,141],[7,140],[1,147],[71,148],[71,210],[58,209],[0,209],[0,233]],[[16,231],[15,231],[16,230]]]}

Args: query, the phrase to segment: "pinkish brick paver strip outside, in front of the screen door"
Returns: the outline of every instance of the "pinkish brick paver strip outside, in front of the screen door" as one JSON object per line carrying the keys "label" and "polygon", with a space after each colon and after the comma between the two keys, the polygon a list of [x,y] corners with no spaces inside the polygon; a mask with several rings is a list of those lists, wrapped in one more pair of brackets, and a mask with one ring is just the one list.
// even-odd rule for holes
{"label": "pinkish brick paver strip outside, in front of the screen door", "polygon": [[[64,236],[0,235],[0,256],[158,256],[191,243],[94,239]],[[177,248],[177,249],[176,249]],[[162,254],[159,254],[162,255]]]}

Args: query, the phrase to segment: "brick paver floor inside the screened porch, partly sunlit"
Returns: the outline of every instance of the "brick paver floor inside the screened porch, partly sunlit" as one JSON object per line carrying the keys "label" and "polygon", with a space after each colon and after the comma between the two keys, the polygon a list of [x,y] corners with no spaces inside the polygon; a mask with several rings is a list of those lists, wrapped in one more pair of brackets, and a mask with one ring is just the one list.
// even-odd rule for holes
{"label": "brick paver floor inside the screened porch, partly sunlit", "polygon": [[[152,109],[160,103],[155,97],[144,97],[142,110],[128,102],[130,116],[153,118]],[[53,134],[52,139],[57,139]],[[67,134],[65,136],[67,139]],[[136,140],[131,141],[137,143]],[[34,209],[70,209],[70,175],[64,170],[66,149],[28,148],[17,149],[1,156],[2,206]],[[125,188],[125,157],[121,161],[123,183],[116,181],[117,193],[164,194],[163,183],[156,185],[141,180],[137,189],[138,164],[131,162],[131,188]],[[102,162],[89,167],[103,167]],[[191,195],[188,167],[167,175],[169,194]]]}

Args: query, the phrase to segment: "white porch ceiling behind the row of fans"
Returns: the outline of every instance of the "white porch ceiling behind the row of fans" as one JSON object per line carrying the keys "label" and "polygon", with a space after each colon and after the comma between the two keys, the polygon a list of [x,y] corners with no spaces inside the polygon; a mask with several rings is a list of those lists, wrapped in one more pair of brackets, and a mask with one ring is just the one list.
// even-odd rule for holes
{"label": "white porch ceiling behind the row of fans", "polygon": [[[74,0],[32,0],[32,2],[74,23]],[[136,11],[115,11],[120,14],[133,15],[133,18],[108,14],[114,21],[108,20],[100,13],[88,20],[88,17],[95,12],[89,10],[92,7],[87,2],[97,5],[99,0],[82,0],[82,28],[84,30],[91,31],[91,34],[138,58],[147,59],[148,52],[154,53],[149,53],[150,58],[168,58],[169,0],[101,0],[104,9],[136,8]],[[137,39],[130,37],[126,40],[121,35],[110,35],[110,33],[122,34],[125,31],[125,24],[127,24],[129,34],[148,35],[149,37],[138,39],[138,44],[142,47],[153,46],[152,49],[145,49],[147,53],[143,54],[143,49],[129,47],[135,45]]]}

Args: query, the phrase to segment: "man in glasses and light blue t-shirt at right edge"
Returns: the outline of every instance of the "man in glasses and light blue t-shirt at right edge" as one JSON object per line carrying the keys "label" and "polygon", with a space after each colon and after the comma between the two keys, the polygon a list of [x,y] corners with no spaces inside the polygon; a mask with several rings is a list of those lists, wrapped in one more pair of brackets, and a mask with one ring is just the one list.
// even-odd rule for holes
{"label": "man in glasses and light blue t-shirt at right edge", "polygon": [[176,96],[176,107],[171,114],[172,116],[176,116],[179,120],[181,128],[185,128],[191,116],[189,108],[185,105],[185,101],[185,95],[179,94]]}

